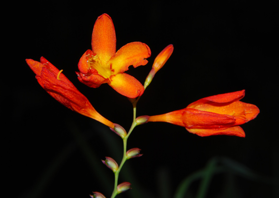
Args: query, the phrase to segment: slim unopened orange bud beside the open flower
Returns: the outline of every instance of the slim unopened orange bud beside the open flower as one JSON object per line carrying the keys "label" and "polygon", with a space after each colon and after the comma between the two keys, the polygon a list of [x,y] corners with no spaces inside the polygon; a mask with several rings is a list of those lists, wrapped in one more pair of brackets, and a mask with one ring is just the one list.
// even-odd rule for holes
{"label": "slim unopened orange bud beside the open flower", "polygon": [[170,44],[166,46],[155,58],[151,71],[149,72],[148,76],[146,77],[144,88],[146,89],[147,86],[151,83],[152,79],[155,76],[155,73],[162,68],[167,60],[170,58],[173,52],[173,45]]}

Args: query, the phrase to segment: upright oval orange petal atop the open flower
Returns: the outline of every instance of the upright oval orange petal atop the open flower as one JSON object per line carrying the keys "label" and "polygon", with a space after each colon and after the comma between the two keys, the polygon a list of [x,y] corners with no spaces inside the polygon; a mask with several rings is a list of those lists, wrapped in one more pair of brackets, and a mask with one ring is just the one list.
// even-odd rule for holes
{"label": "upright oval orange petal atop the open flower", "polygon": [[102,14],[95,22],[92,33],[92,50],[106,63],[116,52],[116,35],[112,19]]}

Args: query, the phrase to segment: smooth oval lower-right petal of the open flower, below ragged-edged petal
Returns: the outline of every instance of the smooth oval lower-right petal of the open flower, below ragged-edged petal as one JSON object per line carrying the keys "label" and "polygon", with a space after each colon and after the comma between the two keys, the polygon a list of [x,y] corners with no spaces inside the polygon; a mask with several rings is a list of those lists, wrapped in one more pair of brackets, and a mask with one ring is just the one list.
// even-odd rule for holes
{"label": "smooth oval lower-right petal of the open flower, below ragged-edged petal", "polygon": [[142,84],[133,76],[120,73],[111,76],[111,81],[108,84],[118,93],[128,98],[134,99],[141,96],[144,92]]}

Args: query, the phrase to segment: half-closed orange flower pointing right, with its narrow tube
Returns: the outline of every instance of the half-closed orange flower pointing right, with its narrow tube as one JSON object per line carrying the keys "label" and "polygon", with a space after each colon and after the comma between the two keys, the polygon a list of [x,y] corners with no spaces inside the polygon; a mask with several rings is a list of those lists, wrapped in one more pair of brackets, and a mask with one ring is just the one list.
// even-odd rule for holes
{"label": "half-closed orange flower pointing right, with its narrow tube", "polygon": [[[139,117],[139,121],[168,122],[183,126],[188,132],[199,136],[236,135],[245,137],[238,125],[254,119],[258,107],[239,101],[245,90],[199,99],[186,108],[170,113]],[[142,124],[142,123],[140,123]]]}

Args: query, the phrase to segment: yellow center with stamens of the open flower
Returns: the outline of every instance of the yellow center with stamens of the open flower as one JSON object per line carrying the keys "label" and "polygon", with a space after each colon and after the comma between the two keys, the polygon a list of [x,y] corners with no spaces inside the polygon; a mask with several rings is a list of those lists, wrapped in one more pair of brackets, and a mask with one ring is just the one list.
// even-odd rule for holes
{"label": "yellow center with stamens of the open flower", "polygon": [[109,78],[111,76],[110,65],[108,63],[103,64],[98,55],[95,55],[88,59],[88,67],[89,69],[96,69],[98,73],[104,78]]}

